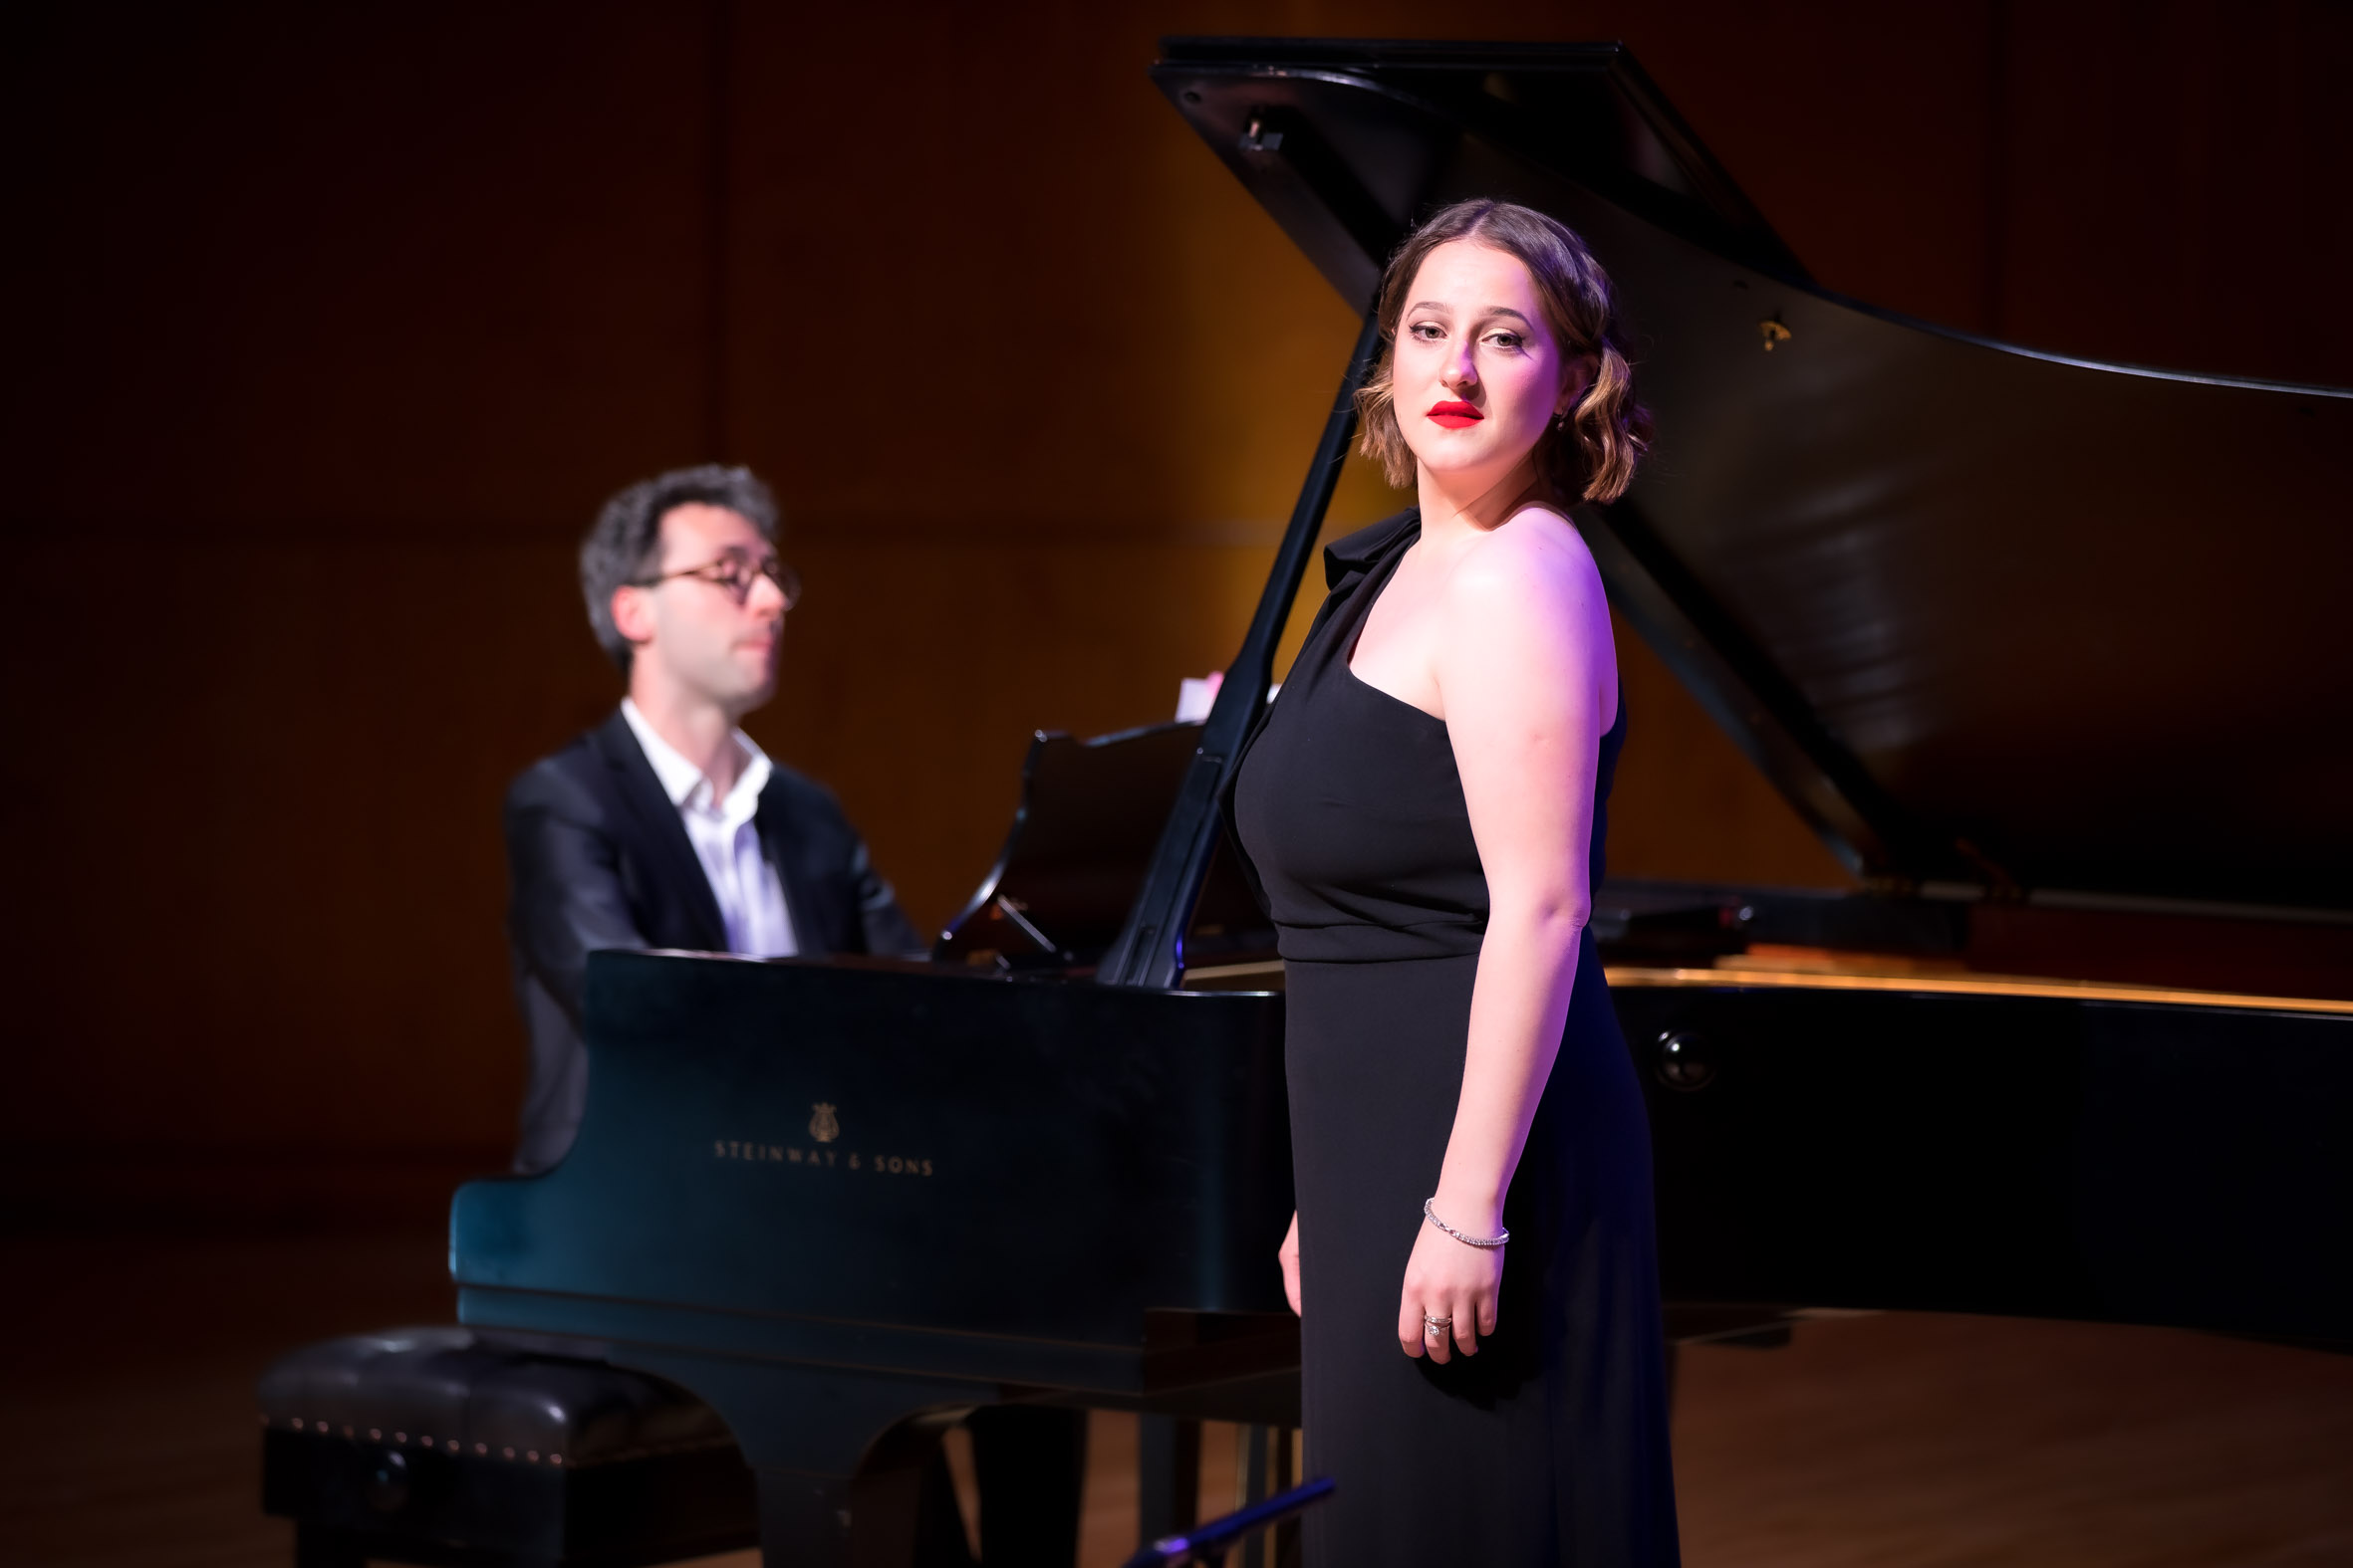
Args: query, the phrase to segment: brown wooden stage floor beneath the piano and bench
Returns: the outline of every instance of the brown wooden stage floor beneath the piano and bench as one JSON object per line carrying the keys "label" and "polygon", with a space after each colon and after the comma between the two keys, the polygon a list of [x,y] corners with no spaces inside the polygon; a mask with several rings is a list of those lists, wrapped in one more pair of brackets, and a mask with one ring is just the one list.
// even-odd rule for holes
{"label": "brown wooden stage floor beneath the piano and bench", "polygon": [[[292,1563],[256,1505],[254,1375],[301,1340],[447,1321],[442,1267],[438,1232],[0,1239],[0,1559]],[[1099,1418],[1087,1568],[1132,1547],[1132,1455],[1134,1425]],[[1675,1467],[1694,1568],[2353,1563],[2353,1356],[1835,1319],[1687,1352]]]}

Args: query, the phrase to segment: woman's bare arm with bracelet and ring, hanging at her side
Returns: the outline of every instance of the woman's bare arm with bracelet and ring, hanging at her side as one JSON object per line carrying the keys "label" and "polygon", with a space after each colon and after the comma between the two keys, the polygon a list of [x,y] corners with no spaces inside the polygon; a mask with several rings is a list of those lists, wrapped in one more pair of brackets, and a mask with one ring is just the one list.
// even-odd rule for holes
{"label": "woman's bare arm with bracelet and ring, hanging at her side", "polygon": [[[1471,545],[1438,614],[1438,689],[1489,914],[1454,1135],[1431,1208],[1454,1229],[1494,1237],[1577,980],[1617,656],[1593,557],[1577,529],[1546,510],[1520,512]],[[1424,1340],[1424,1316],[1454,1319],[1454,1342],[1475,1354],[1478,1335],[1494,1333],[1501,1272],[1501,1248],[1473,1248],[1424,1225],[1398,1302],[1405,1354],[1447,1359],[1445,1335]]]}

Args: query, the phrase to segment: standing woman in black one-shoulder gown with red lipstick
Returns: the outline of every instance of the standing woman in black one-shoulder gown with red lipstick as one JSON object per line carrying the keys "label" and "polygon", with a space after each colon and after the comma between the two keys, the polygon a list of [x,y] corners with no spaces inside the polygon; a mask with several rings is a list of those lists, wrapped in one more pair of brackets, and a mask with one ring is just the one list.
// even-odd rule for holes
{"label": "standing woman in black one-shoulder gown with red lipstick", "polygon": [[1339,1481],[1306,1554],[1673,1563],[1649,1135],[1586,931],[1626,719],[1565,517],[1647,421],[1607,277],[1539,212],[1435,214],[1379,308],[1365,449],[1419,508],[1327,550],[1233,795],[1287,971],[1308,1472]]}

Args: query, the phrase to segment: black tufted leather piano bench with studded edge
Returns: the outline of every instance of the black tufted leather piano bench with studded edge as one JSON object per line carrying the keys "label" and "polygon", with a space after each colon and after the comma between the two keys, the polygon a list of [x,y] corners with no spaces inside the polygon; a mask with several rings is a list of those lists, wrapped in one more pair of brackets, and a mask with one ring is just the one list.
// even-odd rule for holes
{"label": "black tufted leather piano bench with studded edge", "polygon": [[398,1328],[306,1345],[261,1394],[261,1507],[296,1568],[633,1568],[760,1542],[711,1406],[591,1354]]}

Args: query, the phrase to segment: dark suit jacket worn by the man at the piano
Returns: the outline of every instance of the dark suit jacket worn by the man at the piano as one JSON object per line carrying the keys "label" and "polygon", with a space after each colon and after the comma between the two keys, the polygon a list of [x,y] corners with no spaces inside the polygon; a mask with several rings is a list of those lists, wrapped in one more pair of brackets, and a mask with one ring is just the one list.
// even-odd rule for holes
{"label": "dark suit jacket worn by the man at the piano", "polygon": [[[802,957],[920,957],[925,940],[833,795],[776,764],[753,818],[784,882]],[[518,1171],[562,1159],[588,1095],[581,983],[600,947],[725,952],[701,860],[619,710],[506,792],[506,917],[515,997],[532,1034]]]}

